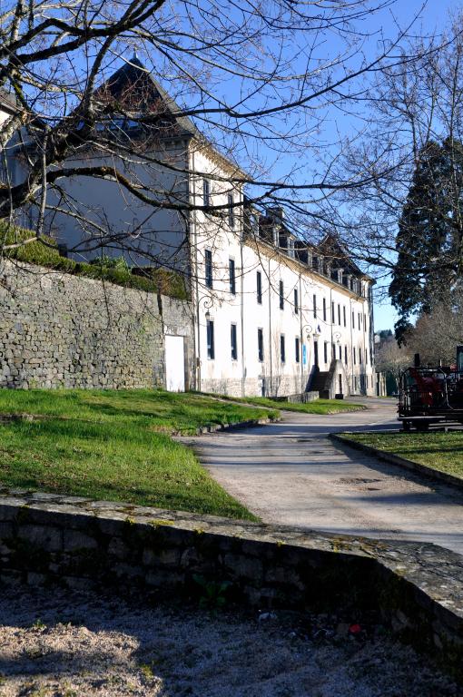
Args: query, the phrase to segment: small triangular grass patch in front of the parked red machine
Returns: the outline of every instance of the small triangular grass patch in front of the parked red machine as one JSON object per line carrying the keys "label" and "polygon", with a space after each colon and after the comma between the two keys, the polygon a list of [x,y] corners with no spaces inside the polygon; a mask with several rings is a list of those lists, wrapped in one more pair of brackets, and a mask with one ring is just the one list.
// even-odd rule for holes
{"label": "small triangular grass patch in front of the parked red machine", "polygon": [[366,446],[377,447],[386,453],[394,453],[421,465],[434,467],[440,472],[463,478],[463,432],[342,435]]}

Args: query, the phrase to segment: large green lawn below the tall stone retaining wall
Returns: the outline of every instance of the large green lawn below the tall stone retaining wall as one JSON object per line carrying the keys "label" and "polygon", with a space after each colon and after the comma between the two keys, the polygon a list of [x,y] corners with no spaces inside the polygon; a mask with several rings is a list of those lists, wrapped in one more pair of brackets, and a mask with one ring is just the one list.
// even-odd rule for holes
{"label": "large green lawn below the tall stone retaining wall", "polygon": [[158,390],[0,389],[0,485],[140,506],[253,516],[172,431],[277,416],[202,395]]}

